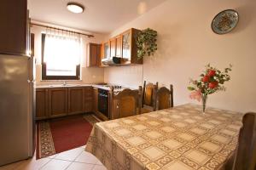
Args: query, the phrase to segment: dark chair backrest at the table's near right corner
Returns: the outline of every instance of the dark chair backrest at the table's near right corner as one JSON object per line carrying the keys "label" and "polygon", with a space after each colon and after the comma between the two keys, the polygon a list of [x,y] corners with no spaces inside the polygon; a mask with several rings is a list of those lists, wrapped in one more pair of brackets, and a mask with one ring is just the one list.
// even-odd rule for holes
{"label": "dark chair backrest at the table's near right corner", "polygon": [[256,170],[256,113],[242,118],[233,170]]}

